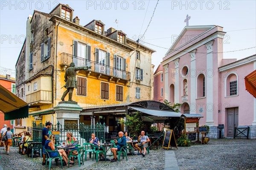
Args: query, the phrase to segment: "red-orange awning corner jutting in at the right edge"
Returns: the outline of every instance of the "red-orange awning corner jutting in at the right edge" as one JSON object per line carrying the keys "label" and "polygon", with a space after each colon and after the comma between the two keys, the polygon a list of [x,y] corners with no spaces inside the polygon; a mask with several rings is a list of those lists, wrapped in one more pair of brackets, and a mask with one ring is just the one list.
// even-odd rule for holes
{"label": "red-orange awning corner jutting in at the right edge", "polygon": [[256,70],[244,77],[245,89],[256,98]]}

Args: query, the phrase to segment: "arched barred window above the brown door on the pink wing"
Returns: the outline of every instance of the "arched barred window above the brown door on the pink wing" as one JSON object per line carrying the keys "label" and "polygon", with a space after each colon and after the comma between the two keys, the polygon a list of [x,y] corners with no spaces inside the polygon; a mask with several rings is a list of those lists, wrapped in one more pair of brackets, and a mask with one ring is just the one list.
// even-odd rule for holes
{"label": "arched barred window above the brown door on the pink wing", "polygon": [[226,96],[238,95],[238,76],[236,73],[230,73],[225,81]]}

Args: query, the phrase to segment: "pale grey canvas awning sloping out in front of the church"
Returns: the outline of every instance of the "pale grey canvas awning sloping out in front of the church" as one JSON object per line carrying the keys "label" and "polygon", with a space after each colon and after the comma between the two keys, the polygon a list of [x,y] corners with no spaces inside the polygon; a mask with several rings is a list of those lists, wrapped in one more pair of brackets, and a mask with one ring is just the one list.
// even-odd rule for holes
{"label": "pale grey canvas awning sloping out in front of the church", "polygon": [[176,113],[172,111],[161,111],[154,109],[146,109],[146,108],[137,108],[137,107],[129,107],[133,110],[140,111],[146,113],[146,116],[143,116],[143,121],[145,122],[155,122],[160,123],[164,122],[168,117],[180,117],[181,113]]}

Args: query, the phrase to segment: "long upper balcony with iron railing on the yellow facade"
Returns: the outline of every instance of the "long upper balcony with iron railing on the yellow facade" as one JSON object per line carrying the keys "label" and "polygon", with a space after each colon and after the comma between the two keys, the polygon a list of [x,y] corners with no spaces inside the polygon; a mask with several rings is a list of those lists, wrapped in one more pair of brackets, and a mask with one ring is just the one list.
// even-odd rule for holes
{"label": "long upper balcony with iron railing on the yellow facade", "polygon": [[[120,70],[118,68],[113,68],[109,65],[105,65],[99,62],[94,62],[85,58],[77,57],[72,54],[61,53],[61,66],[69,66],[70,62],[74,62],[77,67],[91,66],[86,72],[88,75],[95,75],[96,77],[108,77],[109,80],[119,81],[120,79],[124,81],[131,80],[131,73],[128,71]],[[91,73],[95,74],[91,74]]]}

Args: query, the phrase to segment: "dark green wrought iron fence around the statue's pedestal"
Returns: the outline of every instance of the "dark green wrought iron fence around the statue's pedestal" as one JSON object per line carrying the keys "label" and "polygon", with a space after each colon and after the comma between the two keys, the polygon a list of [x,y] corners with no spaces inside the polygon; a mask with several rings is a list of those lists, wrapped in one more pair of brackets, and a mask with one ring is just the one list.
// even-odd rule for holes
{"label": "dark green wrought iron fence around the statue's pedestal", "polygon": [[[36,123],[33,122],[33,140],[41,142],[42,129],[44,127],[45,126],[43,123],[36,125]],[[79,126],[77,124],[65,123],[65,125],[63,126],[58,122],[56,125],[52,125],[51,129],[49,130],[55,134],[55,140],[57,144],[61,144],[61,142],[66,141],[67,132],[71,132],[73,136],[75,136],[77,140],[79,140],[80,144],[89,142],[89,139],[91,138],[91,133],[95,133],[96,137],[98,137],[100,140],[106,138],[105,123],[103,123],[103,125],[101,123],[97,123],[95,126],[84,125],[84,123],[80,123]]]}

